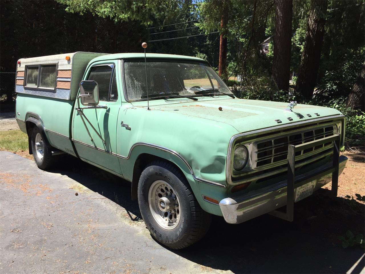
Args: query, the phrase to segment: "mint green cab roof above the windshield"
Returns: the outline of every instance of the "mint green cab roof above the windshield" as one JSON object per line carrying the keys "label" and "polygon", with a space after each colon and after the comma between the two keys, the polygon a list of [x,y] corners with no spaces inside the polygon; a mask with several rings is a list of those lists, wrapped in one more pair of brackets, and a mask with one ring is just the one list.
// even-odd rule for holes
{"label": "mint green cab roof above the windshield", "polygon": [[[144,53],[115,53],[107,54],[103,56],[96,57],[90,61],[90,63],[104,60],[115,60],[115,59],[130,59],[130,58],[145,58]],[[184,59],[184,60],[195,60],[203,61],[205,60],[192,56],[176,55],[176,54],[161,54],[161,53],[146,53],[146,58],[166,58],[166,59]],[[89,64],[90,64],[89,63]]]}

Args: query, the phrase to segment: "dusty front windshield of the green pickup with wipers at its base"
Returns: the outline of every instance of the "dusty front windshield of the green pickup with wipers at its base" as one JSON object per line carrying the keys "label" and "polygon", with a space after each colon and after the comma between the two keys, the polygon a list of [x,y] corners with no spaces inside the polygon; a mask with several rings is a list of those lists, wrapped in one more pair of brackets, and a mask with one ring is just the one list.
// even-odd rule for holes
{"label": "dusty front windshield of the green pickup with wipers at its base", "polygon": [[[124,78],[129,100],[146,100],[144,61],[124,62]],[[208,65],[198,62],[147,61],[149,94],[172,93],[185,96],[232,94]],[[207,92],[204,92],[207,90]],[[209,92],[210,91],[210,92]]]}

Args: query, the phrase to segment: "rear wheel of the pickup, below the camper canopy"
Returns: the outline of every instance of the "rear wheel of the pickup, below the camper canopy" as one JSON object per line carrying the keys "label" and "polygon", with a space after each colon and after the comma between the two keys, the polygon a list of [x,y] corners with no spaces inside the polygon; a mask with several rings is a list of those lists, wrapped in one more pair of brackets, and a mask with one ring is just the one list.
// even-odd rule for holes
{"label": "rear wheel of the pickup, below the camper canopy", "polygon": [[52,148],[47,146],[43,136],[43,133],[39,131],[37,126],[31,130],[31,146],[34,161],[40,169],[47,170],[54,167],[58,157],[52,156]]}

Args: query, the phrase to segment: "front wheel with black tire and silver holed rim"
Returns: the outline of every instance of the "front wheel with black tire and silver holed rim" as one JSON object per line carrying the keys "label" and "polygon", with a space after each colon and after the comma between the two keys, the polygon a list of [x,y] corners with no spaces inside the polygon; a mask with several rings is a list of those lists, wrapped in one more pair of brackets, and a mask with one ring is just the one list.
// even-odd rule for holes
{"label": "front wheel with black tire and silver holed rim", "polygon": [[142,172],[138,204],[151,235],[172,249],[200,240],[210,226],[211,215],[201,209],[182,172],[164,161]]}

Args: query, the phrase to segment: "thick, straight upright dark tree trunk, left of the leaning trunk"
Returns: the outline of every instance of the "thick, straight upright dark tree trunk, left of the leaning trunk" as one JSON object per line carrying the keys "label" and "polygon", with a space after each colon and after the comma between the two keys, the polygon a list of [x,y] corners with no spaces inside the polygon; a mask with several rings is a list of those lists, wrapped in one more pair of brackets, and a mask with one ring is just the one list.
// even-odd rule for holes
{"label": "thick, straight upright dark tree trunk, left of the leaning trunk", "polygon": [[289,90],[293,1],[275,1],[273,78],[279,90]]}

